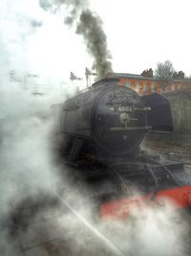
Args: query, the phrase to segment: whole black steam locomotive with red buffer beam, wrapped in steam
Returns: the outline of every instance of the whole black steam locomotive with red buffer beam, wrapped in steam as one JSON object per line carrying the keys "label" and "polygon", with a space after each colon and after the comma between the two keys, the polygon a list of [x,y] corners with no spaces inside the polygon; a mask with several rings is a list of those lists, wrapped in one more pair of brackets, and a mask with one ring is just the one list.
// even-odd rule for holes
{"label": "whole black steam locomotive with red buffer beam, wrapped in steam", "polygon": [[59,105],[57,113],[59,154],[89,185],[103,218],[126,217],[129,205],[163,197],[177,208],[191,205],[183,163],[161,162],[139,150],[148,131],[173,130],[164,96],[138,96],[118,79],[106,78]]}

